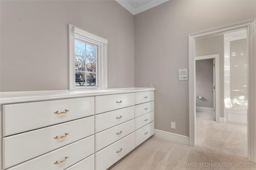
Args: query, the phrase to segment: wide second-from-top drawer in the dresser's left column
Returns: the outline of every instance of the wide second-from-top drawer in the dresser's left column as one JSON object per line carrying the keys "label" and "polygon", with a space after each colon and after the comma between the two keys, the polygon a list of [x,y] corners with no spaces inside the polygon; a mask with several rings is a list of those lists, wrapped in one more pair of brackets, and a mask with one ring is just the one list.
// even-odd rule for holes
{"label": "wide second-from-top drawer in the dresser's left column", "polygon": [[12,135],[10,137],[4,137],[4,168],[14,166],[93,134],[94,116],[90,116],[20,133],[18,135]]}

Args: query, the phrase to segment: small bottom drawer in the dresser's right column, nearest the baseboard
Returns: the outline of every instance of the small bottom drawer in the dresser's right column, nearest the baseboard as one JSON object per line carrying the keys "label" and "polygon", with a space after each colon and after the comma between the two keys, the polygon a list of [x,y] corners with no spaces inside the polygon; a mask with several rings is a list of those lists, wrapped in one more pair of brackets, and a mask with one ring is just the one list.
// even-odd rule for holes
{"label": "small bottom drawer in the dresser's right column, nearest the baseboard", "polygon": [[154,121],[135,131],[135,147],[154,135]]}

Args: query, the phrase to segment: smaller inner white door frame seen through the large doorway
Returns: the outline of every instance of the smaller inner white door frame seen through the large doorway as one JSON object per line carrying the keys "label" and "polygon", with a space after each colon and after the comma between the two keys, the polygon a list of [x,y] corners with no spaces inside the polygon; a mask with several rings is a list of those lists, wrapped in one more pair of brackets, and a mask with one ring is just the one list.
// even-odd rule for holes
{"label": "smaller inner white door frame seen through the large doorway", "polygon": [[[215,59],[215,95],[216,95],[215,101],[216,102],[215,102],[214,109],[216,109],[216,112],[215,112],[216,121],[219,122],[220,121],[220,90],[219,90],[220,89],[220,57],[219,57],[219,54],[202,55],[202,56],[195,57],[195,60],[205,60],[205,59]],[[194,82],[196,82],[196,76],[194,76]],[[196,133],[196,127],[194,128]],[[195,138],[196,138],[196,135],[195,135]],[[196,139],[195,139],[194,145],[196,145]]]}

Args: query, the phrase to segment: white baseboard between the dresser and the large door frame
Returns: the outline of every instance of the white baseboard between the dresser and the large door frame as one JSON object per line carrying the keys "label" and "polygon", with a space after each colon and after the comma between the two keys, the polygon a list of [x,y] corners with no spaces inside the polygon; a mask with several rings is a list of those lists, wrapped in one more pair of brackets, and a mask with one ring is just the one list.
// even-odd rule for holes
{"label": "white baseboard between the dresser and the large door frame", "polygon": [[154,135],[156,137],[160,137],[160,138],[167,139],[170,141],[179,142],[179,143],[183,143],[185,145],[189,145],[189,137],[184,136],[184,135],[161,131],[158,129],[155,129]]}

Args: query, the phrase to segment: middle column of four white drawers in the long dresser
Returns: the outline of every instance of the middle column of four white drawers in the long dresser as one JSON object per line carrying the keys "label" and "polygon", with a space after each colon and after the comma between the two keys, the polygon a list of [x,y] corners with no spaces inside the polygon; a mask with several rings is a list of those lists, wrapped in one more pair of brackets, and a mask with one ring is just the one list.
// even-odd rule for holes
{"label": "middle column of four white drawers in the long dresser", "polygon": [[95,169],[104,170],[135,147],[134,93],[96,96],[95,110]]}

